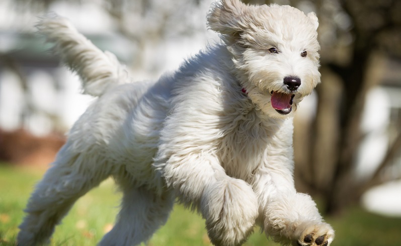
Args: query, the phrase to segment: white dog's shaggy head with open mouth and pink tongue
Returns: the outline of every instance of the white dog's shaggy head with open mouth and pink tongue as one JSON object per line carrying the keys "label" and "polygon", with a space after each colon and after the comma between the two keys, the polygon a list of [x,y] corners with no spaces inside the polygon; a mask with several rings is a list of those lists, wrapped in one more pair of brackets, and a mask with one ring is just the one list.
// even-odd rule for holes
{"label": "white dog's shaggy head with open mouth and pink tongue", "polygon": [[208,25],[226,43],[244,90],[268,116],[291,115],[320,82],[314,13],[221,0],[212,5]]}

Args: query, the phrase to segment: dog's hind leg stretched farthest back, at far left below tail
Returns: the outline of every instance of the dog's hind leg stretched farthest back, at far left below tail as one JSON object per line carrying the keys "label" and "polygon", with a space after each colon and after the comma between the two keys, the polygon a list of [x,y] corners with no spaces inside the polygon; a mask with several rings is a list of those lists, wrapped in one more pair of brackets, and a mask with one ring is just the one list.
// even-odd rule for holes
{"label": "dog's hind leg stretched farthest back, at far left below tail", "polygon": [[48,242],[55,225],[73,203],[109,176],[106,172],[93,172],[99,170],[92,166],[99,164],[98,159],[87,153],[72,153],[68,144],[64,145],[31,195],[25,210],[28,214],[19,226],[18,245]]}

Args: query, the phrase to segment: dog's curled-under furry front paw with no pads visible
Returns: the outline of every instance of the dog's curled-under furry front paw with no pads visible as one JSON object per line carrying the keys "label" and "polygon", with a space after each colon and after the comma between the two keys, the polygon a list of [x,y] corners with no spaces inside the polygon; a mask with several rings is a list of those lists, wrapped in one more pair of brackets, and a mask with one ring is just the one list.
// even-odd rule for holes
{"label": "dog's curled-under furry front paw with no pads visible", "polygon": [[258,202],[251,186],[230,178],[205,189],[201,212],[214,245],[240,245],[253,231]]}

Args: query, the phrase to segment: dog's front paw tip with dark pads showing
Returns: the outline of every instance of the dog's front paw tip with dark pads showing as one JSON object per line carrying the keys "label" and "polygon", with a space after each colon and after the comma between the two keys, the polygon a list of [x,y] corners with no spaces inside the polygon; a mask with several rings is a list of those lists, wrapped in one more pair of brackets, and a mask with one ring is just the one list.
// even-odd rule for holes
{"label": "dog's front paw tip with dark pads showing", "polygon": [[[301,226],[299,226],[301,227]],[[324,222],[302,225],[304,228],[299,239],[293,243],[296,246],[329,246],[334,239],[333,228]],[[302,228],[299,228],[302,229]]]}

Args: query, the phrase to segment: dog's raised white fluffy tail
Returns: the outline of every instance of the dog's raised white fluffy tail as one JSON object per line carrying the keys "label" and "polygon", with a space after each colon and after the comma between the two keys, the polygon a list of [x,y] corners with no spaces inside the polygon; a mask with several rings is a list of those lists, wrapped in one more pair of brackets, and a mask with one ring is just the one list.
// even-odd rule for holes
{"label": "dog's raised white fluffy tail", "polygon": [[101,51],[65,18],[56,14],[43,17],[39,32],[54,43],[54,50],[69,68],[81,77],[83,93],[103,95],[108,88],[129,82],[128,71],[108,51]]}

